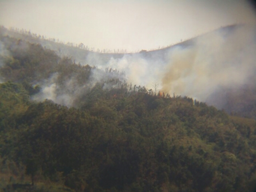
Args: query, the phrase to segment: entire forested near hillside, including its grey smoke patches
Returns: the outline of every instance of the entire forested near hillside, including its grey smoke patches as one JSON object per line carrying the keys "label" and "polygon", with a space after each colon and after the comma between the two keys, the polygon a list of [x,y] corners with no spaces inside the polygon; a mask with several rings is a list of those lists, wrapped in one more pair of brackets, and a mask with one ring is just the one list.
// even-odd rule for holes
{"label": "entire forested near hillside, including its grey smoke patches", "polygon": [[3,191],[256,189],[254,119],[0,38]]}

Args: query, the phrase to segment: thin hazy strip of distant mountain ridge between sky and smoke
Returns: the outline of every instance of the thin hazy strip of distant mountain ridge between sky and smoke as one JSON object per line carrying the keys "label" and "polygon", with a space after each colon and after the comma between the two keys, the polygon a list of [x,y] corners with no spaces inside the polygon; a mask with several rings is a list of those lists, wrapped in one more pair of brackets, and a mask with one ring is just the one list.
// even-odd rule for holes
{"label": "thin hazy strip of distant mountain ridge between sky and smoke", "polygon": [[[226,26],[226,27],[221,27],[219,29],[217,29],[216,31],[222,31],[223,33],[230,33],[232,32],[235,28],[239,27],[240,25],[230,25],[230,26]],[[53,51],[56,51],[56,53],[58,53],[59,56],[68,56],[68,57],[72,57],[73,59],[76,60],[76,62],[80,62],[81,64],[90,64],[90,65],[99,65],[103,64],[103,63],[108,63],[108,61],[111,58],[122,58],[124,55],[141,55],[142,57],[148,58],[148,59],[154,59],[154,58],[165,58],[168,55],[168,52],[170,51],[170,49],[173,49],[177,46],[180,47],[187,47],[187,46],[191,46],[194,45],[195,40],[199,37],[195,37],[192,39],[188,39],[185,41],[182,41],[181,43],[175,44],[175,45],[171,45],[168,47],[165,47],[163,49],[158,49],[158,50],[153,50],[153,51],[147,51],[147,50],[142,50],[141,52],[138,53],[102,53],[102,52],[97,52],[97,51],[91,51],[85,48],[85,46],[83,46],[84,48],[79,47],[79,45],[75,46],[69,44],[63,44],[63,43],[57,43],[56,40],[54,39],[42,39],[41,35],[40,38],[39,36],[35,36],[32,35],[30,32],[20,32],[20,31],[14,31],[14,30],[9,30],[7,28],[4,28],[4,26],[2,26],[0,28],[0,33],[2,35],[9,35],[10,37],[14,37],[17,39],[22,39],[22,40],[26,40],[30,43],[38,43],[41,44],[43,47],[46,47],[47,49],[51,49]],[[96,59],[90,59],[90,57],[92,58],[98,58],[96,61]],[[166,58],[165,58],[166,59]],[[86,62],[90,62],[90,63],[86,63]]]}

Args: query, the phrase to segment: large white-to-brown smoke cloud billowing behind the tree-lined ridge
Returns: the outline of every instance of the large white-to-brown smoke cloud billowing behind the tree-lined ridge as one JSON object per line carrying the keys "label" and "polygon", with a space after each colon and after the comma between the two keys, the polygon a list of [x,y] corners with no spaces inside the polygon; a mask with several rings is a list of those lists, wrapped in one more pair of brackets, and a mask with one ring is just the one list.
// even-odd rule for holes
{"label": "large white-to-brown smoke cloud billowing behind the tree-lined ridge", "polygon": [[169,49],[111,58],[100,67],[124,71],[134,85],[153,88],[157,82],[165,93],[187,95],[222,109],[228,89],[252,83],[255,50],[255,26],[236,25]]}

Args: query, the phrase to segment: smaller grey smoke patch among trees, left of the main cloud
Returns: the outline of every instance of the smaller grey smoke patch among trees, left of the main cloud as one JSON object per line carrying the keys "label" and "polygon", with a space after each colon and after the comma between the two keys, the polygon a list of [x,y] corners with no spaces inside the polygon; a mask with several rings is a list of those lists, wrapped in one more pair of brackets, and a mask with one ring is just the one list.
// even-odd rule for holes
{"label": "smaller grey smoke patch among trees, left of the main cloud", "polygon": [[61,74],[55,73],[49,79],[37,82],[41,87],[41,91],[33,95],[32,100],[43,101],[50,99],[60,105],[77,107],[76,101],[90,92],[90,89],[92,89],[97,82],[104,82],[102,88],[110,89],[115,88],[116,82],[108,82],[108,80],[123,80],[122,74],[120,73],[110,70],[104,71],[97,68],[91,70],[89,80],[82,83],[82,85],[78,82],[78,76],[75,74],[63,81],[60,81],[60,79],[62,79]]}

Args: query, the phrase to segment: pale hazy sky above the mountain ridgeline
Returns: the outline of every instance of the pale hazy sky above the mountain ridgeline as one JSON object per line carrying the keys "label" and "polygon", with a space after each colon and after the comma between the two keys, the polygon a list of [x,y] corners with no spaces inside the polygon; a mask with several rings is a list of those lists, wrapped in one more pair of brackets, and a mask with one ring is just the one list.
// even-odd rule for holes
{"label": "pale hazy sky above the mountain ridgeline", "polygon": [[95,49],[157,49],[240,22],[255,22],[243,0],[0,0],[0,25]]}

